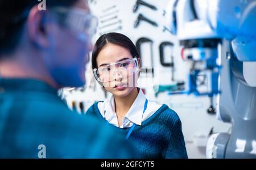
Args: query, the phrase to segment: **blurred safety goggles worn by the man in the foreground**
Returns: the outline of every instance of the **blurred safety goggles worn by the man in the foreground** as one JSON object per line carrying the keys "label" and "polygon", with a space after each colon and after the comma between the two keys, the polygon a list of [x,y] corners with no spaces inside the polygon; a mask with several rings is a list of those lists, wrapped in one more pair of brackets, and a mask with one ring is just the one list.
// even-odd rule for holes
{"label": "blurred safety goggles worn by the man in the foreground", "polygon": [[89,11],[76,7],[53,7],[51,11],[57,14],[56,16],[62,26],[79,33],[81,39],[85,39],[86,35],[92,38],[96,33],[98,20]]}

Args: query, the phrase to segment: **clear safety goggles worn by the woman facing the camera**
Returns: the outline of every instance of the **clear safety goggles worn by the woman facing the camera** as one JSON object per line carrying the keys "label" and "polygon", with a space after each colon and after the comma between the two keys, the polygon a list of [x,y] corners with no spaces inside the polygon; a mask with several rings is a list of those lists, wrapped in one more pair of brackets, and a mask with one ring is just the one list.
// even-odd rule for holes
{"label": "clear safety goggles worn by the woman facing the camera", "polygon": [[118,63],[104,65],[94,68],[93,73],[97,81],[110,82],[114,81],[117,76],[129,77],[138,72],[139,64],[137,57],[123,60]]}

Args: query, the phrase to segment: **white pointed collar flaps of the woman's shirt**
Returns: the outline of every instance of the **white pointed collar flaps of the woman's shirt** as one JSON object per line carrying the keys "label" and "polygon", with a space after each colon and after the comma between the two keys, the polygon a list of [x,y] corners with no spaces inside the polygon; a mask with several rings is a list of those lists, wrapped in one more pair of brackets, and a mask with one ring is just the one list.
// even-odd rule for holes
{"label": "white pointed collar flaps of the woman's shirt", "polygon": [[[131,105],[129,111],[125,115],[125,118],[129,119],[129,121],[135,123],[136,125],[141,126],[145,101],[146,97],[144,96],[142,90],[139,89],[138,96],[136,97],[133,105]],[[115,113],[115,103],[113,95],[112,97],[110,97],[105,110],[110,111],[110,113]]]}

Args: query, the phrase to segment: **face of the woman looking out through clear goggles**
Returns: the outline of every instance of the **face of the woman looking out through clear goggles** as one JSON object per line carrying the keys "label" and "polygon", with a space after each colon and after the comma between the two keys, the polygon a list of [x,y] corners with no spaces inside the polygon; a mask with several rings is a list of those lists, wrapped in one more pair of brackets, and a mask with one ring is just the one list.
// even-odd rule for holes
{"label": "face of the woman looking out through clear goggles", "polygon": [[[97,56],[97,67],[104,68],[104,71],[110,70],[108,81],[103,82],[104,88],[114,96],[126,97],[136,88],[138,80],[138,72],[130,73],[133,68],[133,63],[130,67],[126,67],[127,63],[116,64],[108,67],[109,64],[119,63],[120,61],[129,61],[133,59],[129,49],[116,44],[109,43]],[[141,60],[138,58],[138,65],[141,65]],[[127,72],[126,72],[127,71]]]}

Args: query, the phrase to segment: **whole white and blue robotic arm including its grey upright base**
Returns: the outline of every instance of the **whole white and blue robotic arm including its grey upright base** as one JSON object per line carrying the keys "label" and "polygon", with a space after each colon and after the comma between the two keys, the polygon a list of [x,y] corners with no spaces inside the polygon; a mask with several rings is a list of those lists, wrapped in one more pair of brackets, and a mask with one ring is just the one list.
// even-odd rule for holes
{"label": "whole white and blue robotic arm including its grey upright base", "polygon": [[[190,63],[186,93],[216,95],[218,118],[233,125],[231,134],[210,138],[208,157],[255,158],[256,1],[172,0],[167,16]],[[208,80],[204,92],[201,74]]]}

